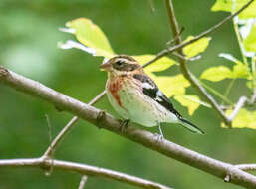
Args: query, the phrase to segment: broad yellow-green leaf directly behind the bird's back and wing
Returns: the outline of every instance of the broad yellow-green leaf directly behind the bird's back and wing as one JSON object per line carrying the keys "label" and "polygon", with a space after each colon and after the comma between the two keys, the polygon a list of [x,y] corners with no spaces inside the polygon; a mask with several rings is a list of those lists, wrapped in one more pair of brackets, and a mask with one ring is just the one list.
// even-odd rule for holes
{"label": "broad yellow-green leaf directly behind the bird's back and wing", "polygon": [[185,95],[185,89],[190,86],[190,83],[181,74],[173,77],[156,76],[152,73],[147,74],[167,97]]}

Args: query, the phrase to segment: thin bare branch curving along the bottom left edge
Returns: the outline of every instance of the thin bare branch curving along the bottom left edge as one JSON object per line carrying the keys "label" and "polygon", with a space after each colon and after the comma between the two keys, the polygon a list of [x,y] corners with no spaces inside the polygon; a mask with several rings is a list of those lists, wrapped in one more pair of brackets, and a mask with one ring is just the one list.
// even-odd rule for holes
{"label": "thin bare branch curving along the bottom left edge", "polygon": [[55,169],[59,170],[72,171],[83,175],[112,179],[145,189],[170,189],[167,186],[163,186],[149,180],[86,164],[61,160],[46,160],[44,158],[0,160],[0,167],[36,167],[41,169],[48,169],[50,166],[53,166]]}

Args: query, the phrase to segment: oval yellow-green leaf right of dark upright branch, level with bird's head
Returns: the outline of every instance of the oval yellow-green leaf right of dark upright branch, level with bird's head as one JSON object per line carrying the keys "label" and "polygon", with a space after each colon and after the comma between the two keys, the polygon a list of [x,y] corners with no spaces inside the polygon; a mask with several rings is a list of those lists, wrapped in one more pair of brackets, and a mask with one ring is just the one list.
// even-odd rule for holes
{"label": "oval yellow-green leaf right of dark upright branch, level with bird's head", "polygon": [[205,70],[202,73],[200,78],[217,82],[217,81],[221,81],[223,79],[232,78],[232,77],[233,77],[233,73],[230,71],[229,68],[224,66],[218,66],[218,67],[211,67]]}

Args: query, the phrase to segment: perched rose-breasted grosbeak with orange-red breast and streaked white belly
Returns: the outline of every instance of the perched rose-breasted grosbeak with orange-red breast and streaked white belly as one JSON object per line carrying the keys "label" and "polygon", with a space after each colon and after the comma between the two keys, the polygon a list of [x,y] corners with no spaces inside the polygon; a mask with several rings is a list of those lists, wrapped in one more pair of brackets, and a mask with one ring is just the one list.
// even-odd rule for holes
{"label": "perched rose-breasted grosbeak with orange-red breast and streaked white belly", "polygon": [[109,101],[125,119],[147,127],[158,125],[162,137],[162,122],[180,123],[192,132],[203,133],[174,109],[134,58],[119,55],[103,63],[101,69],[108,72]]}

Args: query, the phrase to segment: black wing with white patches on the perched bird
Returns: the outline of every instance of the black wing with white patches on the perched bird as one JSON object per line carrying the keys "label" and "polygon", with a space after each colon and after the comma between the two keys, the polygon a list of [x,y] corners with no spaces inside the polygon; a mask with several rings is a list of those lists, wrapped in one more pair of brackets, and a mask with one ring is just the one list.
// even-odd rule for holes
{"label": "black wing with white patches on the perched bird", "polygon": [[153,80],[145,74],[134,74],[133,78],[139,80],[142,83],[143,94],[151,97],[154,101],[164,106],[170,112],[175,114],[179,119],[182,116],[174,109],[169,99],[164,95]]}

